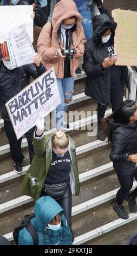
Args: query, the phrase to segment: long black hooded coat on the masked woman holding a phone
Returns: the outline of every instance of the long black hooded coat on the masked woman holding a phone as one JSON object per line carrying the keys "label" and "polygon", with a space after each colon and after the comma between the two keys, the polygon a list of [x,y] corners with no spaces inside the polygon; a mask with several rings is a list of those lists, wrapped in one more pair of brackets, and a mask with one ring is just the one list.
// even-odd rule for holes
{"label": "long black hooded coat on the masked woman holding a phone", "polygon": [[[110,41],[114,42],[116,23],[107,14],[97,15],[93,18],[93,38],[85,45],[84,70],[86,71],[85,94],[96,102],[110,106],[110,67],[101,70],[101,63],[108,57],[108,50],[102,44],[101,36],[105,33],[105,27],[109,26],[112,32]],[[127,66],[121,66],[121,80],[130,90]]]}

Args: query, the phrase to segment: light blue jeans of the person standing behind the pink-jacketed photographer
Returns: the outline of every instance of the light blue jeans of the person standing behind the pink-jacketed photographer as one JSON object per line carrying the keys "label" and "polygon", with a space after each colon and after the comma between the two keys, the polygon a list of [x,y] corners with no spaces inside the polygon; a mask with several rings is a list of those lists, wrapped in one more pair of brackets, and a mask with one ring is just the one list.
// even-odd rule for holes
{"label": "light blue jeans of the person standing behind the pink-jacketed photographer", "polygon": [[83,18],[82,26],[84,29],[84,35],[88,41],[93,36],[92,14],[90,8],[87,6],[87,0],[74,0],[74,2]]}

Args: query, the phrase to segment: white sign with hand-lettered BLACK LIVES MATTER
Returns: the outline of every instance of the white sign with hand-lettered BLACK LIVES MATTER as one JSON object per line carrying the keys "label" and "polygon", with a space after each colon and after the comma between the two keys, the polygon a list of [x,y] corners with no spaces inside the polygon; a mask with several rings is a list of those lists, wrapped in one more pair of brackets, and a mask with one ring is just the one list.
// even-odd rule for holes
{"label": "white sign with hand-lettered BLACK LIVES MATTER", "polygon": [[5,104],[17,139],[35,125],[39,115],[46,117],[60,103],[54,68],[51,68]]}

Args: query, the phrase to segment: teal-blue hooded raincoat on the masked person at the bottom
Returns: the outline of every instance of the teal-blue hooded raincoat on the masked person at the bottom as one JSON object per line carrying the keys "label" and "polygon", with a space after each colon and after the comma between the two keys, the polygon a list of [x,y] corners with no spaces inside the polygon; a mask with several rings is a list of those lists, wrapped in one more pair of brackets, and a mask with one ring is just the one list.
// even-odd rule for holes
{"label": "teal-blue hooded raincoat on the masked person at the bottom", "polygon": [[[59,213],[62,213],[61,228],[48,229],[48,223]],[[61,206],[51,197],[39,198],[35,203],[35,218],[31,220],[38,234],[38,245],[72,245],[72,235],[63,215]],[[34,245],[32,236],[26,228],[19,231],[18,245]]]}

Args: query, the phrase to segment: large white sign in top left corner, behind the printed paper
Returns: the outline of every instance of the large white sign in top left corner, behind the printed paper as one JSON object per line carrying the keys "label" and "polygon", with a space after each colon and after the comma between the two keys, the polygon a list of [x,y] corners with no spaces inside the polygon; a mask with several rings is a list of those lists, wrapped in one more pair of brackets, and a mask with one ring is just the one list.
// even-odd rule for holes
{"label": "large white sign in top left corner, behind the printed paper", "polygon": [[0,6],[0,44],[6,40],[5,33],[25,23],[31,42],[33,42],[32,5]]}

